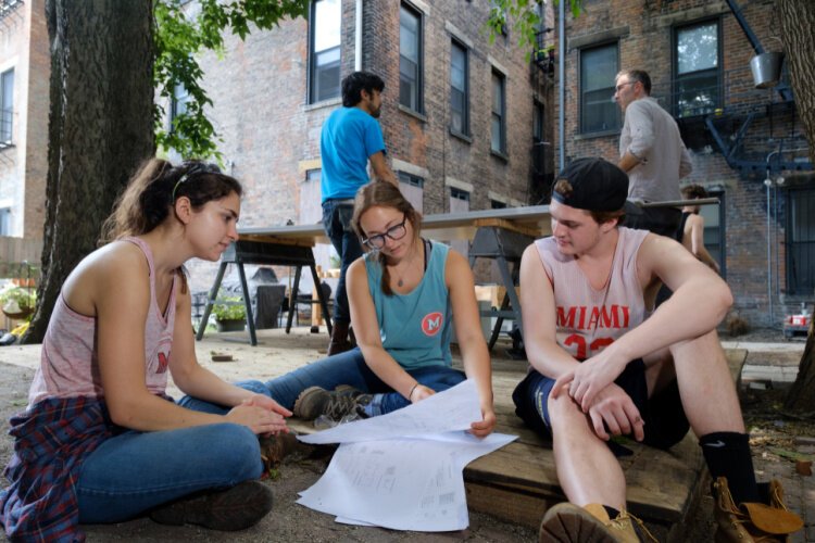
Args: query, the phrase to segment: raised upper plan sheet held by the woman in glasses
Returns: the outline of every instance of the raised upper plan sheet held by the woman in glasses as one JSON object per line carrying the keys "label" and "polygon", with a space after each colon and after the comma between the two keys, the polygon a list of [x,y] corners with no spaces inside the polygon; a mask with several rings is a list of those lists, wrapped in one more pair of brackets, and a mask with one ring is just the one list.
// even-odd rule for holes
{"label": "raised upper plan sheet held by the woman in glasses", "polygon": [[340,425],[311,435],[298,435],[298,439],[303,443],[317,445],[410,438],[467,430],[472,422],[480,419],[481,407],[475,381],[467,379],[451,389],[387,415]]}

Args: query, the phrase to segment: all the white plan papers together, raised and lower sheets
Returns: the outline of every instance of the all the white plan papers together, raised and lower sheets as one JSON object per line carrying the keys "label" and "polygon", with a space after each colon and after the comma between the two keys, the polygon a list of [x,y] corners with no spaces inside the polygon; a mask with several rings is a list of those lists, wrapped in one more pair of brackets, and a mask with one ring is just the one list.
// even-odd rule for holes
{"label": "all the white plan papers together, raised and lower sheets", "polygon": [[465,381],[399,412],[314,434],[330,433],[319,441],[302,439],[342,444],[297,503],[346,523],[462,530],[469,523],[464,467],[516,439],[498,433],[479,439],[462,431],[480,417],[475,384]]}

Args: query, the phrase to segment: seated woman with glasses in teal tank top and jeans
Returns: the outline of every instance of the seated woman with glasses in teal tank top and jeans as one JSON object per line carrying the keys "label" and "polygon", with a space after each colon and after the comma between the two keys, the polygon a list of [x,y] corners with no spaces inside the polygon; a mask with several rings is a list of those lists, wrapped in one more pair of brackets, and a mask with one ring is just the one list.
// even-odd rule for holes
{"label": "seated woman with glasses in teal tank top and jeans", "polygon": [[[469,377],[476,381],[482,414],[471,431],[490,433],[496,425],[490,358],[473,273],[462,255],[419,237],[421,219],[390,182],[360,189],[352,225],[367,253],[348,270],[358,348],[266,383],[238,384],[274,397],[300,418],[341,421],[349,415],[390,413]],[[451,366],[453,327],[464,371]],[[185,402],[217,412],[196,399]]]}

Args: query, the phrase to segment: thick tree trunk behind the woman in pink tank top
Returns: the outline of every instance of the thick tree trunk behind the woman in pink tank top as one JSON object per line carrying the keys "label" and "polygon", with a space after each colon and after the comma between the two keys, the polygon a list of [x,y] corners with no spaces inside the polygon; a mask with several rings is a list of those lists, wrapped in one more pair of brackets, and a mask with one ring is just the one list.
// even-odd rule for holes
{"label": "thick tree trunk behind the woman in pink tank top", "polygon": [[26,343],[41,342],[62,283],[154,152],[152,1],[47,0],[51,43],[42,277]]}

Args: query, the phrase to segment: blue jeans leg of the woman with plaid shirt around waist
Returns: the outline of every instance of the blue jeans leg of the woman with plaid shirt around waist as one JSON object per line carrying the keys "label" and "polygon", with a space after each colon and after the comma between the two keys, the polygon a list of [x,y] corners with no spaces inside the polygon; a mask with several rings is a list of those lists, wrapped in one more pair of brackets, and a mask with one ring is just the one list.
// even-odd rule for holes
{"label": "blue jeans leg of the woman with plaid shirt around waist", "polygon": [[83,463],[79,522],[121,522],[197,491],[258,479],[262,471],[258,438],[244,426],[126,431]]}

